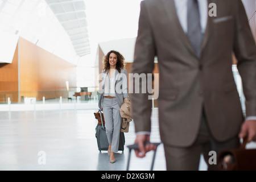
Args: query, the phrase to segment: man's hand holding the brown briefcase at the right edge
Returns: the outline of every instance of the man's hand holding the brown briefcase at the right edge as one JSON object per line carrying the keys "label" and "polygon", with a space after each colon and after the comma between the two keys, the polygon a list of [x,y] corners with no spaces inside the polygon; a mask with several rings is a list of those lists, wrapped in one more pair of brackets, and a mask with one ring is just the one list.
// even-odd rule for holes
{"label": "man's hand holding the brown briefcase at the right edge", "polygon": [[248,137],[248,143],[256,142],[256,120],[247,120],[243,123],[239,134],[240,138]]}

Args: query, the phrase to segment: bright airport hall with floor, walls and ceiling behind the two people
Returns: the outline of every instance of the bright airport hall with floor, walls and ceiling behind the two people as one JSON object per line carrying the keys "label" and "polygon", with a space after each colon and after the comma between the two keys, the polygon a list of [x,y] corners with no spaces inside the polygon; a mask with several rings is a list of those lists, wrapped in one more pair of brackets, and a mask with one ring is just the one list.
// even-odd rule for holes
{"label": "bright airport hall with floor, walls and ceiling behind the two people", "polygon": [[[110,3],[112,2],[112,3]],[[256,40],[256,1],[243,0]],[[0,0],[0,170],[125,171],[127,146],[134,143],[134,122],[125,149],[109,163],[96,139],[99,75],[110,50],[125,57],[131,72],[141,0]],[[116,8],[116,12],[105,13]],[[110,26],[112,20],[118,27]],[[244,113],[245,97],[234,57],[232,71]],[[158,73],[155,58],[154,73]],[[161,142],[158,100],[152,100],[151,142]],[[256,148],[256,143],[247,144]],[[148,171],[145,158],[131,153],[130,170]],[[166,170],[163,144],[154,170]],[[207,170],[201,156],[200,171]]]}

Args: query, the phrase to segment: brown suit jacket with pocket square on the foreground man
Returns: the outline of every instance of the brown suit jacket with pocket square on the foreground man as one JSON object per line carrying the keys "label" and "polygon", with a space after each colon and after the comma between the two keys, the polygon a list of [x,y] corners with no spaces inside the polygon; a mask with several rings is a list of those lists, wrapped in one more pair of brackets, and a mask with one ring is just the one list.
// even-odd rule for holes
{"label": "brown suit jacket with pocket square on the foreground man", "polygon": [[[164,144],[190,146],[199,131],[203,108],[212,136],[225,141],[243,122],[232,72],[232,53],[246,97],[246,114],[256,115],[256,46],[241,0],[209,0],[217,16],[208,24],[197,57],[177,17],[174,0],[141,3],[132,73],[159,67],[159,130]],[[140,82],[140,84],[142,84]],[[131,94],[135,132],[150,131],[148,94]]]}

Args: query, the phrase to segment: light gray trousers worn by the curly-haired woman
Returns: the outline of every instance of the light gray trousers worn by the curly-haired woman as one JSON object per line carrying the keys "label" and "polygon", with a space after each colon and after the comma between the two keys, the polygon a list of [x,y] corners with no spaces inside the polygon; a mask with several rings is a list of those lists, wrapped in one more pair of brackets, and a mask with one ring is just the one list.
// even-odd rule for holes
{"label": "light gray trousers worn by the curly-haired woman", "polygon": [[106,135],[108,137],[109,144],[111,144],[111,151],[118,152],[120,127],[122,118],[120,115],[120,107],[117,103],[117,98],[105,98],[103,97],[103,113],[106,125]]}

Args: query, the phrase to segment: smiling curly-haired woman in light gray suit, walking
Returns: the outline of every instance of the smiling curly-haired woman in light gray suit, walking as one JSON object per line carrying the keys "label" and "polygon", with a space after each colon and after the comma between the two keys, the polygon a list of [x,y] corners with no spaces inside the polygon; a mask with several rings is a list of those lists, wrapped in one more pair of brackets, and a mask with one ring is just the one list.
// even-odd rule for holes
{"label": "smiling curly-haired woman in light gray suit, walking", "polygon": [[110,51],[105,56],[104,69],[102,71],[102,92],[98,106],[104,111],[110,163],[115,162],[114,153],[118,152],[122,122],[119,109],[123,101],[129,99],[124,60],[118,51]]}

